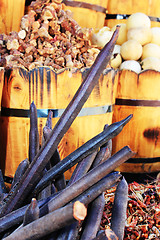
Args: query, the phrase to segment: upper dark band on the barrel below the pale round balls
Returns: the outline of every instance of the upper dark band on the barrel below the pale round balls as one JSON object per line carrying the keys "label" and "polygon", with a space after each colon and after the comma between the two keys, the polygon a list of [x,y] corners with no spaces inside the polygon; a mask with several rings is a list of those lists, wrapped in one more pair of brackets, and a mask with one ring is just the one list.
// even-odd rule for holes
{"label": "upper dark band on the barrel below the pale round balls", "polygon": [[117,98],[115,105],[139,106],[139,107],[160,107],[159,100],[139,100]]}

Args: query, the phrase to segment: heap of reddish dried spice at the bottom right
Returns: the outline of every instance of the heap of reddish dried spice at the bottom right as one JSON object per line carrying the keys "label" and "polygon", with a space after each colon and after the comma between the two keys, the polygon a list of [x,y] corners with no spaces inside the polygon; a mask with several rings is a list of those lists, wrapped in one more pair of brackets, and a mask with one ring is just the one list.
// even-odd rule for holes
{"label": "heap of reddish dried spice at the bottom right", "polygon": [[[105,192],[105,209],[101,229],[110,228],[116,187]],[[124,240],[160,239],[160,184],[128,185],[128,206]]]}

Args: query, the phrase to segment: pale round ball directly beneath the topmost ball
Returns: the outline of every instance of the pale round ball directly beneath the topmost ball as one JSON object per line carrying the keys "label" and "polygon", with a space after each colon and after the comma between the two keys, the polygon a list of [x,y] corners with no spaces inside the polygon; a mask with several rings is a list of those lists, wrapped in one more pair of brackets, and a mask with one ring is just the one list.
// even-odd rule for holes
{"label": "pale round ball directly beneath the topmost ball", "polygon": [[148,27],[138,27],[130,28],[127,32],[127,39],[134,39],[138,41],[142,46],[150,43],[152,39],[151,28]]}

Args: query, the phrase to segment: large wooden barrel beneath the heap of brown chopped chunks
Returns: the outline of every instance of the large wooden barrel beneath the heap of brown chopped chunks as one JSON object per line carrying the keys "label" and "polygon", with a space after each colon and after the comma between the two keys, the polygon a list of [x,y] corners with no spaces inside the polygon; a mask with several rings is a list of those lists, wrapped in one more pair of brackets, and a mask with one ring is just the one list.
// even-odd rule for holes
{"label": "large wooden barrel beneath the heap of brown chopped chunks", "polygon": [[[5,175],[12,177],[18,164],[28,157],[29,107],[34,101],[38,113],[40,141],[48,111],[53,111],[53,126],[67,107],[88,69],[65,69],[55,73],[49,67],[31,71],[14,68],[5,71],[0,118],[0,164]],[[113,105],[118,82],[115,70],[100,77],[78,117],[59,144],[61,159],[112,123]],[[70,178],[71,170],[65,173]]]}

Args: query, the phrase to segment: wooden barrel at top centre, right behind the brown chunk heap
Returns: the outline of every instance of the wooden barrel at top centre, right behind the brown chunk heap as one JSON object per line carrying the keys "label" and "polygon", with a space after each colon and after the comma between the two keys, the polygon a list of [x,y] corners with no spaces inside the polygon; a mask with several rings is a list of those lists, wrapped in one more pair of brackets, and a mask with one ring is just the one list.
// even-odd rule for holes
{"label": "wooden barrel at top centre, right behind the brown chunk heap", "polygon": [[102,28],[106,17],[108,0],[63,0],[65,10],[73,13],[73,18],[83,28]]}

